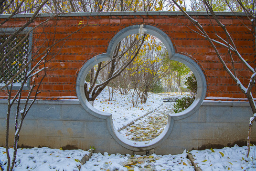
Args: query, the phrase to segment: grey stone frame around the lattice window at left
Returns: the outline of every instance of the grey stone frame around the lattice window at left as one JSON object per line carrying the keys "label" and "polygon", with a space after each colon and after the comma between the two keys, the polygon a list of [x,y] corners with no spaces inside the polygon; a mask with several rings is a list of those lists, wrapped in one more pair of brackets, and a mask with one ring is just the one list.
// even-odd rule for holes
{"label": "grey stone frame around the lattice window at left", "polygon": [[[17,31],[18,29],[20,29],[19,27],[18,28],[0,28],[0,35],[10,35],[12,33],[14,33],[15,31]],[[20,33],[19,35],[26,35],[30,30],[32,30],[33,28],[32,27],[27,27],[27,28],[24,28]],[[32,57],[32,43],[33,43],[33,33],[32,31],[29,33],[29,56],[28,56],[28,61],[31,60],[31,57]],[[29,64],[29,70],[31,70],[31,64]],[[23,87],[23,90],[29,90],[30,89],[30,80],[31,78],[29,78],[27,80],[27,83],[24,84],[24,87]],[[0,83],[0,86],[1,84],[3,83]],[[3,84],[4,85],[4,84]],[[2,86],[3,86],[2,85]],[[9,85],[8,87],[10,87],[11,85]],[[21,87],[21,83],[14,83],[12,85],[12,90],[19,90]],[[6,89],[6,88],[4,88]]]}

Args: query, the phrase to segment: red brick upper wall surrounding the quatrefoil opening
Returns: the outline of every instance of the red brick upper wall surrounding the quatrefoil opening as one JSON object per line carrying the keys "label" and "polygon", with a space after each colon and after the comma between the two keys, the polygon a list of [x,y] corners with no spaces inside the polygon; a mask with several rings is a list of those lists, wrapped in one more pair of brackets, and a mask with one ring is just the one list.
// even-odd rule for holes
{"label": "red brick upper wall surrounding the quatrefoil opening", "polygon": [[[204,29],[214,38],[214,29],[210,26],[208,16],[194,17],[203,24]],[[241,55],[251,66],[255,67],[255,39],[240,20],[252,29],[251,23],[241,16],[239,17],[240,20],[236,19],[235,16],[219,16],[219,18],[234,38]],[[25,20],[25,18],[16,18],[6,23],[4,27],[20,27]],[[85,24],[84,28],[82,28],[82,25],[78,26],[80,21]],[[39,20],[32,23],[31,27],[37,25],[38,22]],[[245,98],[239,87],[224,71],[222,64],[215,55],[215,51],[206,39],[190,29],[194,27],[188,19],[174,15],[60,17],[57,22],[49,21],[44,27],[34,31],[34,50],[40,43],[45,43],[45,41],[53,43],[53,39],[56,42],[74,31],[82,29],[66,38],[65,41],[58,43],[52,49],[51,52],[59,51],[59,54],[47,64],[50,68],[40,87],[41,94],[39,94],[39,97],[51,99],[53,96],[76,96],[75,81],[79,68],[88,59],[106,53],[109,41],[119,30],[137,24],[147,24],[160,28],[171,38],[177,53],[186,54],[201,66],[207,82],[206,97]],[[219,34],[224,34],[220,27],[217,27],[216,24],[214,26]],[[217,47],[220,53],[225,56],[227,49],[218,45]],[[224,60],[228,61],[230,59],[226,57]],[[235,67],[242,82],[248,83],[252,73],[237,58],[235,58]],[[253,92],[255,92],[255,89]],[[23,95],[26,95],[26,92]],[[0,96],[6,98],[2,91]]]}

